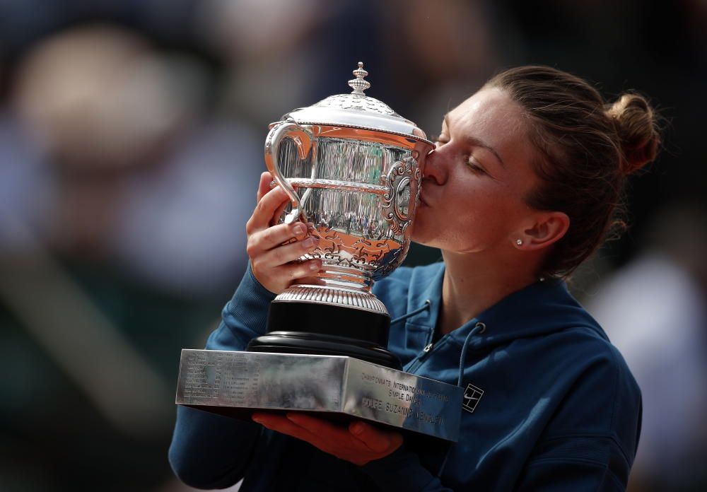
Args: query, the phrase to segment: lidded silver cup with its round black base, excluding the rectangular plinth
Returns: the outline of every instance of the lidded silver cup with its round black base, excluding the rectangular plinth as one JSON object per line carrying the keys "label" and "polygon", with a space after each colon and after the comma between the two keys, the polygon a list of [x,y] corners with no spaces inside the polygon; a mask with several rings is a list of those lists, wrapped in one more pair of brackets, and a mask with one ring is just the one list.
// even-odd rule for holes
{"label": "lidded silver cup with its round black base, excluding the rectangular plinth", "polygon": [[332,95],[271,125],[265,162],[291,206],[281,221],[315,224],[317,283],[291,286],[271,303],[267,335],[248,350],[353,356],[399,368],[385,350],[390,316],[371,293],[407,254],[421,165],[434,148],[414,123],[363,91]]}

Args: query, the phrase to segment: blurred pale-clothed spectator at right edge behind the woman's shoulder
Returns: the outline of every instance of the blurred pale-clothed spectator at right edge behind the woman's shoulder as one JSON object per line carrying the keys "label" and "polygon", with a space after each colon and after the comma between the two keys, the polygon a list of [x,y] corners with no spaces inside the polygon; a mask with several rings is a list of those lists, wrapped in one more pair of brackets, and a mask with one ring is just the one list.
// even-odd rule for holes
{"label": "blurred pale-clothed spectator at right edge behind the woman's shoulder", "polygon": [[638,491],[697,490],[706,478],[705,224],[701,208],[666,209],[643,252],[585,301],[643,394],[641,442],[631,472]]}

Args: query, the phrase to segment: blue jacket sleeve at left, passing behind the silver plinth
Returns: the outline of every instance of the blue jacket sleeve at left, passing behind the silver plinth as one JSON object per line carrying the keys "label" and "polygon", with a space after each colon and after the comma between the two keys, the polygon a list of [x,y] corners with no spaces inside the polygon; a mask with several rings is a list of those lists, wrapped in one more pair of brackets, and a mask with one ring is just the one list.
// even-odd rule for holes
{"label": "blue jacket sleeve at left, passing behind the silver plinth", "polygon": [[[267,307],[274,297],[248,266],[206,348],[243,350],[250,339],[264,334]],[[178,406],[170,465],[189,486],[226,488],[243,478],[261,431],[256,423]]]}

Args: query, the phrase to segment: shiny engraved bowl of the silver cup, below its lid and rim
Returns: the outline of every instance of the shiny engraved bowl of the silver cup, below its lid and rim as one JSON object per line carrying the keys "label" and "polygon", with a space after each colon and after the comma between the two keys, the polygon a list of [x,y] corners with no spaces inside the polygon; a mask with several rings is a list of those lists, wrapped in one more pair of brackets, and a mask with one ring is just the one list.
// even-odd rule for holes
{"label": "shiny engraved bowl of the silver cup, below its lid and rim", "polygon": [[[303,215],[315,224],[318,244],[306,258],[324,261],[323,279],[330,277],[327,266],[343,266],[358,270],[351,274],[370,286],[402,262],[409,246],[409,211],[416,206],[410,197],[419,193],[419,169],[411,151],[376,142],[315,139],[304,160],[291,140],[283,141],[279,154]],[[290,211],[288,206],[284,216]]]}

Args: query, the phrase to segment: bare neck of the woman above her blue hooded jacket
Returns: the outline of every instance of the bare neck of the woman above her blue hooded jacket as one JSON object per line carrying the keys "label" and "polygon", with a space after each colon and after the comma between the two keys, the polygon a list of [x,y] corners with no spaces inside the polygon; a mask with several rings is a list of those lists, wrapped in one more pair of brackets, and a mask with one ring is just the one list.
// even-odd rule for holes
{"label": "bare neck of the woman above her blue hooded jacket", "polygon": [[479,254],[443,252],[445,274],[439,329],[447,334],[506,295],[537,281],[534,262],[491,261]]}

